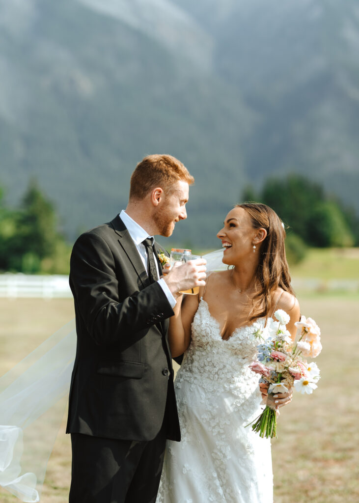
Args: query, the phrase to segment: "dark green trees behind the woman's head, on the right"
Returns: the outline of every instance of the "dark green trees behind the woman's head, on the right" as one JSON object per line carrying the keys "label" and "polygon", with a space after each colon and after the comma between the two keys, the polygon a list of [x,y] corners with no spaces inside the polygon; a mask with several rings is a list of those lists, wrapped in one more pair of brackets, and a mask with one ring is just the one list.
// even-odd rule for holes
{"label": "dark green trees behind the woman's head, on the right", "polygon": [[244,201],[273,208],[287,231],[287,255],[292,263],[304,258],[306,248],[359,245],[359,218],[317,183],[300,175],[269,178],[261,191],[248,186]]}

